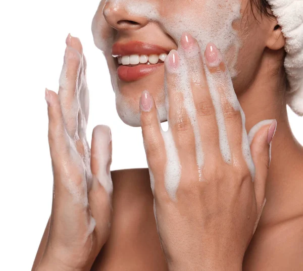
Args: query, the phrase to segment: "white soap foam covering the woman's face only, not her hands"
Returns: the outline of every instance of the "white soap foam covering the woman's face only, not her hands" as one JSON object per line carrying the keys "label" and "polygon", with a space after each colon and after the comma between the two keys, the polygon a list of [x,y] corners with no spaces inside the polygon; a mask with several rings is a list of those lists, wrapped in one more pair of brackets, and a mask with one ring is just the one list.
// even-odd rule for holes
{"label": "white soap foam covering the woman's face only, not her hands", "polygon": [[[153,3],[149,1],[142,2],[141,0],[108,0],[104,9],[104,13],[109,15],[111,12],[119,9],[126,11],[132,16],[145,17],[149,21],[155,22],[168,35],[173,37],[178,44],[183,32],[189,32],[195,37],[202,50],[205,49],[208,42],[212,41],[221,50],[223,56],[225,56],[230,48],[234,48],[234,57],[228,58],[228,68],[232,77],[237,74],[235,65],[237,62],[237,53],[240,48],[240,40],[238,38],[236,30],[233,29],[232,23],[235,20],[240,19],[240,5],[241,2],[235,2],[234,0],[206,0],[201,4],[203,9],[203,16],[201,12],[197,12],[199,9],[196,5],[189,5],[187,8],[180,9],[180,13],[169,13],[167,9],[163,7],[161,3]],[[105,18],[100,13],[103,9],[99,6],[96,15],[92,22],[92,32],[94,42],[96,46],[103,50],[107,57],[109,66],[112,66],[111,47],[113,45],[113,29],[107,24]],[[200,27],[198,27],[200,26]],[[112,31],[112,35],[110,34]],[[116,71],[111,71],[112,83],[117,81]],[[114,86],[116,93],[119,92],[118,86]],[[160,108],[162,105],[157,104]],[[131,126],[139,126],[139,118],[135,114],[139,115],[139,112],[133,114],[134,107],[132,103],[128,106],[123,106],[123,110],[130,111],[129,114],[120,113],[123,116],[123,121]],[[161,121],[166,120],[166,114],[160,114]]]}

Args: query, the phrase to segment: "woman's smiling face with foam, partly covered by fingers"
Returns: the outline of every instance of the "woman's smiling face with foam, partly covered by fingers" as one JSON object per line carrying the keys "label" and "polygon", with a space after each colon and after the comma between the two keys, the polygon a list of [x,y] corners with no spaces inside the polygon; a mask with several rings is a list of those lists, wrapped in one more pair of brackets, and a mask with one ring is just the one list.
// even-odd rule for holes
{"label": "woman's smiling face with foam, partly covered by fingers", "polygon": [[139,99],[148,90],[161,121],[166,120],[162,60],[170,50],[178,49],[183,32],[196,38],[202,51],[214,42],[223,53],[237,95],[247,88],[254,80],[268,32],[247,1],[102,0],[92,32],[109,66],[120,118],[140,126]]}

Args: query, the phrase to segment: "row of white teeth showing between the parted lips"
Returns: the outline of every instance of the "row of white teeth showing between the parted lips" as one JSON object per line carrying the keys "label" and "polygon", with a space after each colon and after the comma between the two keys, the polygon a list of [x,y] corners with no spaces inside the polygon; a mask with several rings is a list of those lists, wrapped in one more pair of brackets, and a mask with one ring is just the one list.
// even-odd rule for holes
{"label": "row of white teeth showing between the parted lips", "polygon": [[[130,55],[130,56],[123,56],[118,57],[118,64],[122,65],[137,65],[141,64],[157,64],[160,61],[164,62],[167,57],[166,53],[161,53],[161,55]],[[161,63],[162,63],[161,62]]]}

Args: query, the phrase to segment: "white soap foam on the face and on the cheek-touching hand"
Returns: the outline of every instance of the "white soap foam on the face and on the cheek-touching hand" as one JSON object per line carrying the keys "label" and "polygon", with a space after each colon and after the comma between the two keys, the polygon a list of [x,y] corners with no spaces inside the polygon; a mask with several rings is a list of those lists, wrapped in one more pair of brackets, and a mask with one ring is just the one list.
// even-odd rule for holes
{"label": "white soap foam on the face and on the cheek-touching hand", "polygon": [[[250,173],[252,176],[254,176],[255,167],[250,155],[248,138],[245,130],[245,116],[243,111],[241,110],[231,80],[231,78],[233,78],[237,74],[235,66],[237,63],[238,51],[241,46],[238,34],[233,28],[232,24],[233,22],[241,18],[241,2],[235,2],[234,0],[226,0],[224,2],[222,2],[221,0],[206,0],[203,3],[203,8],[203,16],[200,12],[197,12],[198,9],[196,8],[196,5],[189,5],[186,8],[184,7],[184,9],[182,10],[180,9],[180,13],[173,13],[169,15],[166,14],[164,17],[162,16],[162,12],[164,11],[166,13],[169,13],[169,11],[164,9],[161,3],[159,3],[159,5],[156,5],[155,3],[151,3],[148,1],[142,2],[139,0],[108,0],[104,12],[106,15],[109,15],[111,11],[117,11],[118,9],[122,9],[132,16],[145,17],[149,21],[157,23],[163,29],[163,31],[170,35],[178,44],[178,52],[180,55],[180,69],[178,72],[180,72],[180,75],[179,80],[176,83],[179,86],[178,91],[181,91],[183,94],[184,107],[193,127],[198,169],[201,169],[204,165],[204,153],[200,140],[199,127],[196,121],[196,110],[194,106],[192,92],[190,91],[189,72],[187,68],[188,63],[185,63],[183,60],[184,55],[182,53],[182,49],[179,45],[179,42],[182,33],[189,32],[194,38],[196,38],[202,51],[204,51],[206,45],[209,42],[214,42],[216,44],[216,46],[223,55],[223,61],[225,61],[228,69],[226,69],[225,72],[221,72],[219,74],[211,74],[207,68],[205,70],[211,96],[216,110],[221,153],[224,160],[227,163],[230,163],[231,150],[228,143],[225,119],[221,106],[221,98],[220,94],[217,91],[217,88],[220,83],[225,84],[225,82],[228,82],[228,86],[226,86],[226,91],[224,94],[226,95],[231,106],[233,106],[234,110],[238,110],[241,113],[243,125],[242,151]],[[103,24],[97,23],[97,20],[98,18],[96,18],[95,16],[92,26],[94,35],[96,35],[97,33],[99,33],[97,35],[100,35],[100,33],[102,33],[102,27],[107,27],[104,22]],[[106,40],[107,42],[105,43],[98,43],[97,37],[94,40],[97,43],[96,45],[100,49],[102,49],[105,53],[108,53],[109,48],[111,48],[112,46],[112,44],[110,44],[112,40],[109,37]],[[234,54],[233,57],[228,56],[228,58],[225,59],[225,56],[231,49]],[[110,58],[110,56],[107,57],[107,60],[109,66],[111,66],[112,59]],[[116,71],[112,70],[111,76],[112,81],[117,80]],[[198,81],[199,75],[193,75],[193,80]],[[115,92],[117,95],[117,108],[119,107],[119,105],[121,105],[119,114],[120,117],[125,123],[130,124],[132,126],[138,126],[140,124],[138,116],[139,112],[138,115],[136,115],[137,112],[132,109],[131,103],[128,102],[123,96],[121,96],[121,94],[119,93],[118,86],[116,85],[115,87]],[[165,86],[165,89],[167,89],[167,86]],[[157,106],[161,110],[164,109],[164,105],[162,104],[157,104]],[[168,99],[166,99],[165,107],[167,113],[169,109]],[[121,108],[124,111],[123,114],[121,114]],[[164,111],[161,111],[160,121],[165,120],[165,115],[167,114],[164,114]],[[178,157],[178,152],[175,146],[171,129],[169,128],[166,132],[162,131],[162,135],[164,138],[167,154],[165,186],[170,197],[172,199],[176,199],[176,191],[178,189],[181,178],[180,160]],[[153,175],[151,174],[151,176]]]}

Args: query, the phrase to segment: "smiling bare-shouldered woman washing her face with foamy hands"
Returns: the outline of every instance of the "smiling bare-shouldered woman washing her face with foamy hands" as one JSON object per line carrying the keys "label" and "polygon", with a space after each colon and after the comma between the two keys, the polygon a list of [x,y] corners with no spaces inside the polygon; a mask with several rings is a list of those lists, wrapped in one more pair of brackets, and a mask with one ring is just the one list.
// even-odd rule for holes
{"label": "smiling bare-shouldered woman washing her face with foamy hands", "polygon": [[[279,6],[272,7],[279,15]],[[46,91],[54,201],[34,270],[303,268],[303,150],[292,137],[286,114],[287,101],[302,112],[297,102],[301,77],[294,74],[301,66],[285,62],[286,78],[284,47],[288,60],[297,55],[289,43],[285,46],[279,23],[263,0],[100,3],[92,25],[94,40],[108,61],[119,116],[129,125],[142,124],[161,243],[148,171],[110,175],[107,127],[94,129],[90,160],[85,58],[79,40],[69,35],[59,95]],[[240,151],[248,139],[242,134],[243,114],[233,89],[246,116],[246,131],[271,120],[255,126],[248,136],[256,172],[250,151]],[[288,94],[289,89],[295,94]],[[218,96],[216,91],[223,92]],[[159,129],[156,106],[161,121],[169,114],[166,136]],[[202,130],[208,133],[195,130],[201,124],[195,115],[206,117],[202,123],[208,126]],[[243,157],[235,158],[234,153]],[[210,164],[215,167],[208,171]],[[232,168],[222,170],[226,165]],[[236,178],[239,186],[225,182]],[[254,186],[244,179],[255,180]],[[212,185],[205,186],[208,183]],[[214,183],[220,185],[207,188]],[[235,188],[244,192],[233,197]],[[254,195],[252,200],[249,195]]]}

